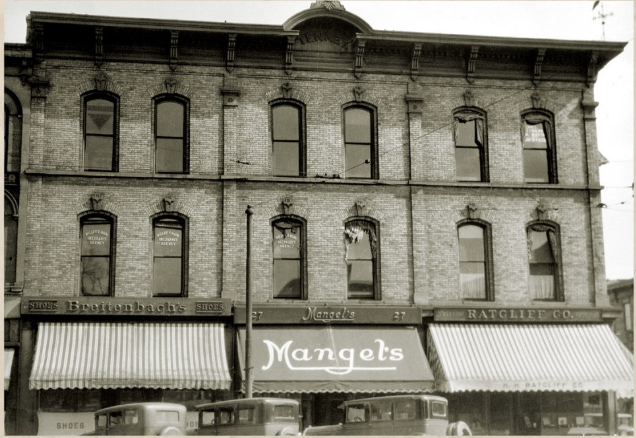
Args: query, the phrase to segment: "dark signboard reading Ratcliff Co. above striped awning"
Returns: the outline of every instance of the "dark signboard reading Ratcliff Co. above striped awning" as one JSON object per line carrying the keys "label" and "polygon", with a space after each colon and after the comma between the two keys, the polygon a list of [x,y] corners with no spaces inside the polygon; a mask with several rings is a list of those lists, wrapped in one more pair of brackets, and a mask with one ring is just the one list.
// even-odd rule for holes
{"label": "dark signboard reading Ratcliff Co. above striped awning", "polygon": [[443,308],[435,322],[602,322],[600,309]]}

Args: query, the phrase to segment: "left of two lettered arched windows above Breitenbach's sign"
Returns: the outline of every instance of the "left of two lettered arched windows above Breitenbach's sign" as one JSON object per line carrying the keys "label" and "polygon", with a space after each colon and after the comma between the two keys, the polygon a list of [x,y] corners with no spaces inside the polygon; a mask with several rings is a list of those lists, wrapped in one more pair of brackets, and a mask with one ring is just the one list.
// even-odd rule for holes
{"label": "left of two lettered arched windows above Breitenbach's sign", "polygon": [[114,219],[103,214],[80,221],[80,289],[85,296],[109,296],[114,289]]}

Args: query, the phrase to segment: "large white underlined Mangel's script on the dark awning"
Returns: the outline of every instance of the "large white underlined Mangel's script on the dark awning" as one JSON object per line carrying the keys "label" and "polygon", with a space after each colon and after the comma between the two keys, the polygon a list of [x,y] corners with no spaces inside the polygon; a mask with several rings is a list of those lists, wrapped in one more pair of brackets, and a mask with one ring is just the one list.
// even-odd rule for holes
{"label": "large white underlined Mangel's script on the dark awning", "polygon": [[[397,369],[395,362],[404,359],[401,348],[390,348],[381,339],[374,341],[375,348],[294,348],[294,341],[287,341],[282,346],[276,342],[263,340],[267,346],[269,359],[263,371],[270,369],[275,363],[285,364],[293,371],[324,371],[329,374],[345,375],[352,371],[391,371]],[[364,362],[382,362],[386,366],[364,366]],[[330,363],[334,363],[331,365]],[[362,363],[362,365],[360,365]],[[323,365],[324,364],[324,365]]]}

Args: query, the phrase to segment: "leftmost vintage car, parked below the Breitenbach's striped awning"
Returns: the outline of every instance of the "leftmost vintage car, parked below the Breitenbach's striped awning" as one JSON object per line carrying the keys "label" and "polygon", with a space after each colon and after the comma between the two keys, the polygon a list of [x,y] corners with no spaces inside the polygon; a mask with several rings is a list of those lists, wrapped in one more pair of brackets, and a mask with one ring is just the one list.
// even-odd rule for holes
{"label": "leftmost vintage car, parked below the Breitenbach's striped awning", "polygon": [[84,435],[185,435],[186,407],[130,403],[95,412],[95,430]]}

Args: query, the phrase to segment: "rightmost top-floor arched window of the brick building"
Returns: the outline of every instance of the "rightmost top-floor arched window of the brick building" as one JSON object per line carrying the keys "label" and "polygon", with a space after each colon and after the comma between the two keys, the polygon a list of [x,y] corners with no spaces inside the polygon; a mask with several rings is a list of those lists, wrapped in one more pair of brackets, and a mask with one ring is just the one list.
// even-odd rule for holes
{"label": "rightmost top-floor arched window of the brick building", "polygon": [[528,183],[557,182],[553,117],[536,110],[522,114],[523,172]]}

